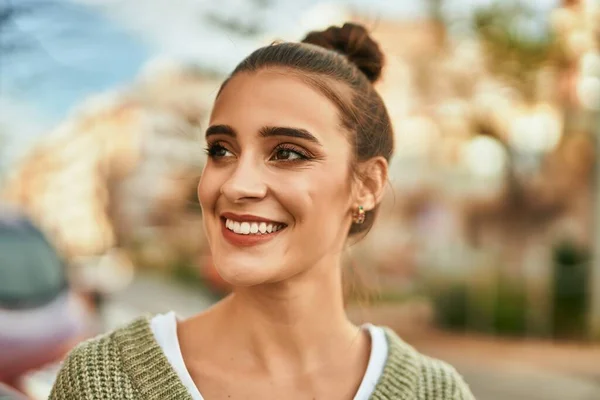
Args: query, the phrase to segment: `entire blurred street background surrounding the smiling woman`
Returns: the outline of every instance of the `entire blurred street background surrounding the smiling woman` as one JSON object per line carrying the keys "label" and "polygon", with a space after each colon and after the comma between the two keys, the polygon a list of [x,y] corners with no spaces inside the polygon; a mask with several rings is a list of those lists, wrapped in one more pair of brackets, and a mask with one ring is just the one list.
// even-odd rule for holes
{"label": "entire blurred street background surrounding the smiling woman", "polygon": [[599,0],[0,0],[0,382],[46,398],[80,340],[226,295],[196,198],[216,90],[345,21],[396,132],[351,317],[478,399],[600,399]]}

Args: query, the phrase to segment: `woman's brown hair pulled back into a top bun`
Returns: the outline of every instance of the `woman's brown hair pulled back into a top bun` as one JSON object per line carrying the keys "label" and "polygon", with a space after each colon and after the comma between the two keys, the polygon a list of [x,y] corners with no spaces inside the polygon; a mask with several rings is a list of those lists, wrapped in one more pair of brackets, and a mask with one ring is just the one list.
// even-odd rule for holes
{"label": "woman's brown hair pulled back into a top bun", "polygon": [[[310,32],[300,43],[274,43],[254,51],[235,68],[221,90],[240,72],[272,67],[299,72],[338,107],[341,122],[351,133],[353,165],[378,156],[389,162],[394,134],[383,100],[373,87],[383,64],[383,53],[367,30],[346,23]],[[352,224],[349,234],[368,232],[377,209],[366,212],[363,224]]]}

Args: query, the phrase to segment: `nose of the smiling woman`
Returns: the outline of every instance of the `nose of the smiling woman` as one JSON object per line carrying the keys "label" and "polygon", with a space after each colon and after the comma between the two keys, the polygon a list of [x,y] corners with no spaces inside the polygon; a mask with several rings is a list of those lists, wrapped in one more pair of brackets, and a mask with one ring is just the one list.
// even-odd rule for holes
{"label": "nose of the smiling woman", "polygon": [[260,200],[267,194],[261,166],[249,157],[241,158],[232,175],[221,187],[221,193],[232,203]]}

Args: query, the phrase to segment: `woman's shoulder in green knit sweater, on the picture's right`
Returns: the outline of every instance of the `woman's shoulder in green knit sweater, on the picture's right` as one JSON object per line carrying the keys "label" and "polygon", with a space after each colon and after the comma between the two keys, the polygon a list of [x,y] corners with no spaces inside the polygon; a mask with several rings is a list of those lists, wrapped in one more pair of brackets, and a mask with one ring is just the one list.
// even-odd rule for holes
{"label": "woman's shoulder in green knit sweater, on the picture's right", "polygon": [[454,367],[444,361],[421,354],[400,339],[391,329],[384,328],[384,330],[389,350],[380,386],[387,387],[389,394],[376,397],[377,399],[398,397],[419,400],[474,399],[469,386]]}

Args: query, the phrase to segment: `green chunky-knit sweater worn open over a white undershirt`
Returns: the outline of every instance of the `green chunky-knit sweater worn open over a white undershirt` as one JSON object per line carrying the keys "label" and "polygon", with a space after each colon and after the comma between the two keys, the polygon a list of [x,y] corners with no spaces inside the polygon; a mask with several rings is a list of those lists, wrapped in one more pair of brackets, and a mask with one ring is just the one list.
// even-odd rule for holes
{"label": "green chunky-knit sweater worn open over a white undershirt", "polygon": [[[389,329],[388,358],[371,400],[472,400],[456,370]],[[86,341],[63,364],[50,400],[192,400],[154,339],[150,317]]]}

